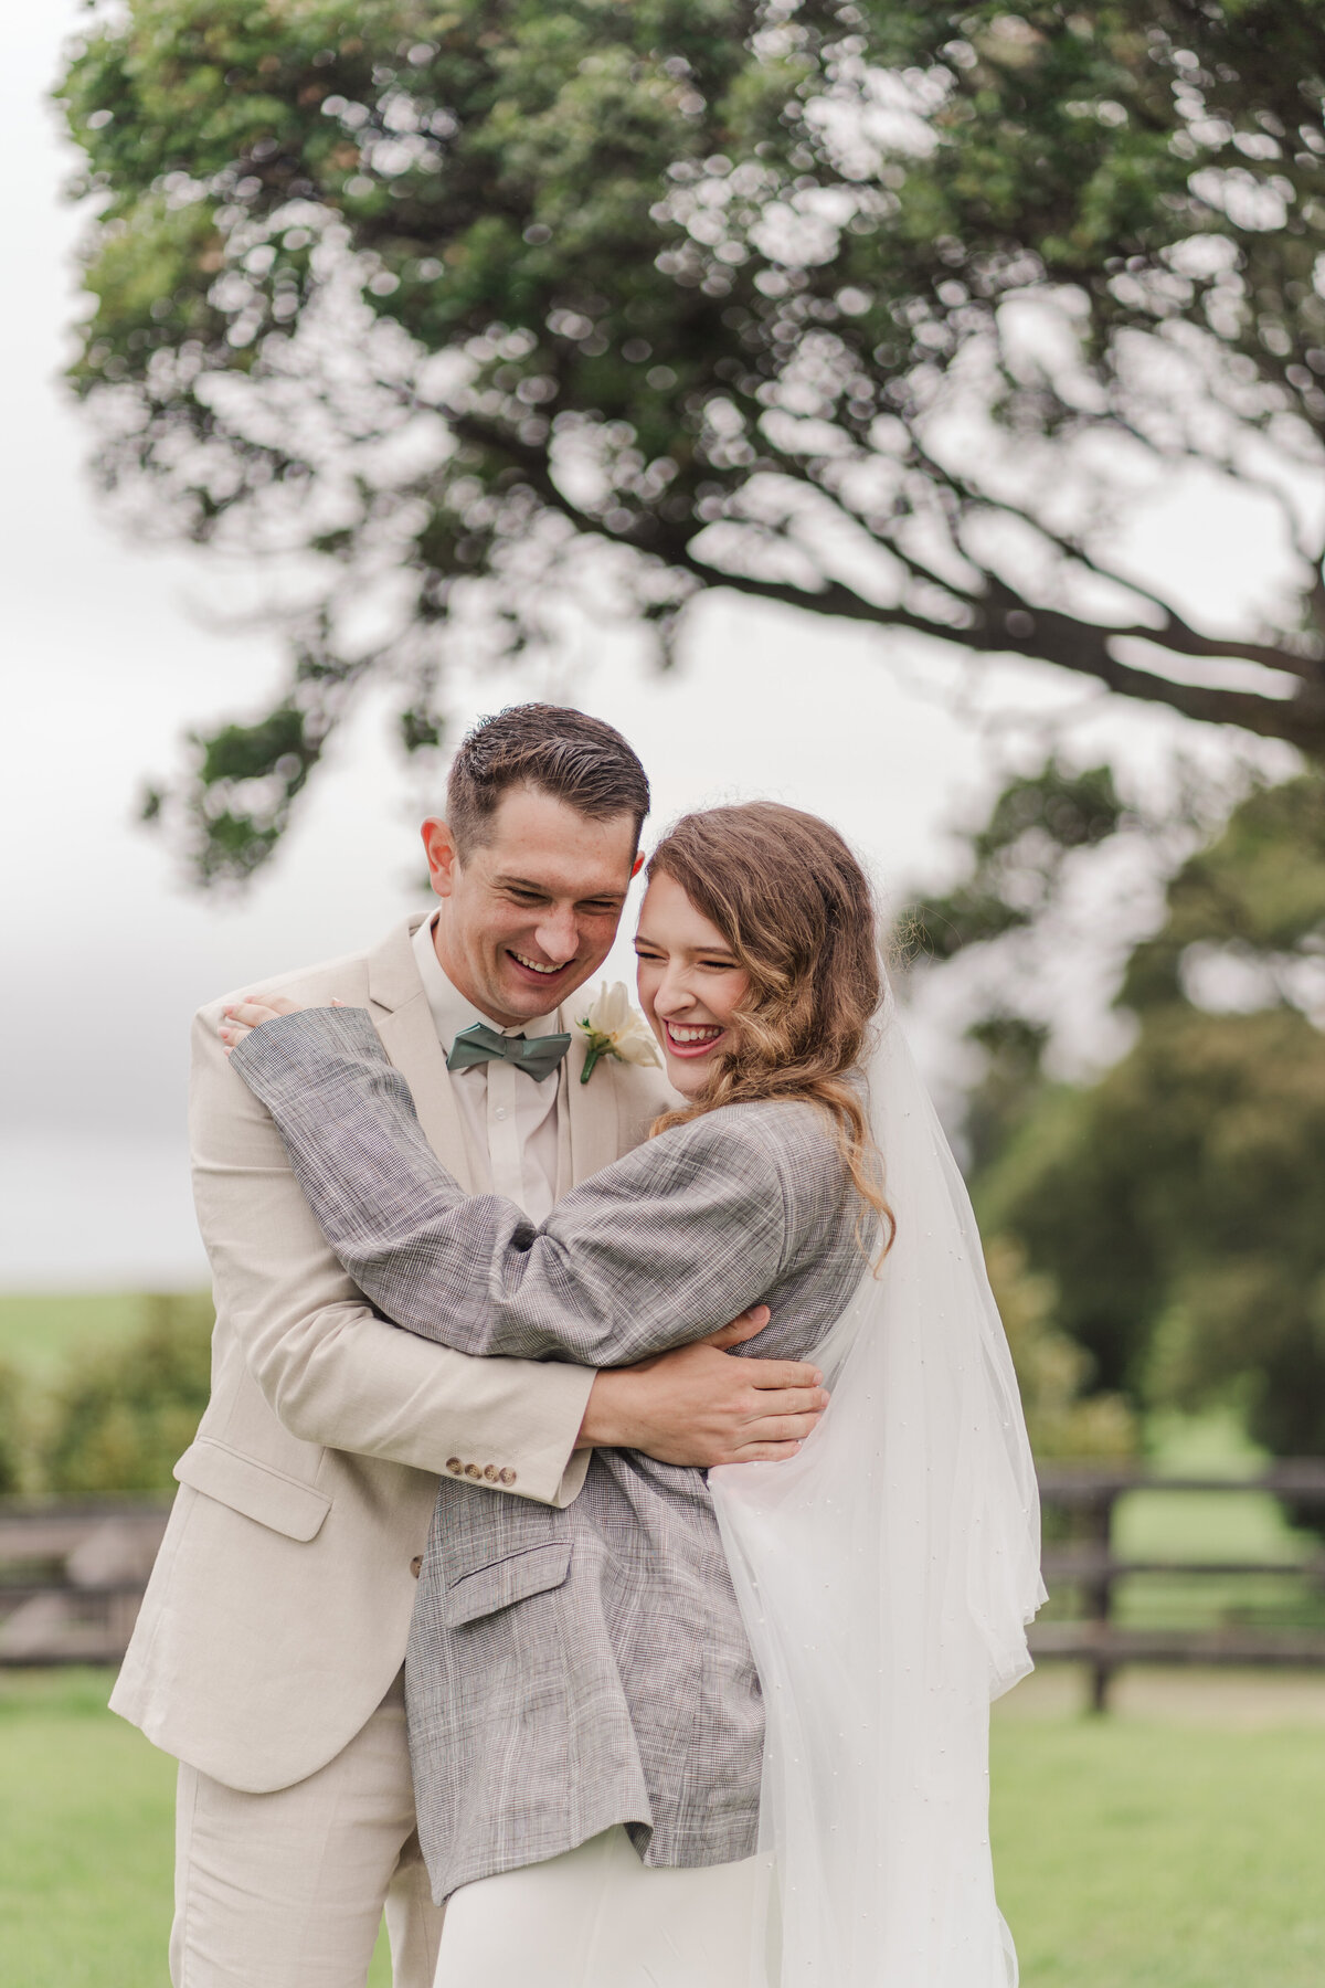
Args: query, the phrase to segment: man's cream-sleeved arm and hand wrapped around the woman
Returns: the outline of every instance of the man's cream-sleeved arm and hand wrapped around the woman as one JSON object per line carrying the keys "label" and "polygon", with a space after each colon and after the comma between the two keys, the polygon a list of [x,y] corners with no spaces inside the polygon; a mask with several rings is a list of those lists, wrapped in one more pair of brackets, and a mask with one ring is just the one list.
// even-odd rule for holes
{"label": "man's cream-sleeved arm and hand wrapped around the woman", "polygon": [[[292,1435],[433,1473],[453,1455],[501,1457],[516,1471],[516,1497],[568,1505],[590,1445],[727,1463],[789,1453],[789,1431],[809,1433],[818,1419],[816,1376],[791,1362],[683,1348],[594,1374],[481,1360],[385,1324],[328,1248],[270,1115],[228,1068],[217,1022],[219,1008],[203,1010],[193,1036],[199,1225],[217,1308]],[[757,1330],[735,1326],[729,1344]]]}

